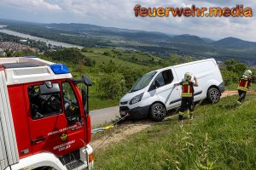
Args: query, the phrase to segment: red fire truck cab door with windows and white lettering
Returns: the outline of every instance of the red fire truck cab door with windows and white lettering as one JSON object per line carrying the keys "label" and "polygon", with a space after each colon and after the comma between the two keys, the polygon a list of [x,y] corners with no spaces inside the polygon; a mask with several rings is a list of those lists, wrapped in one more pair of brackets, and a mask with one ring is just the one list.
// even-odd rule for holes
{"label": "red fire truck cab door with windows and white lettering", "polygon": [[78,94],[70,82],[27,86],[33,154],[63,156],[84,146],[84,121]]}

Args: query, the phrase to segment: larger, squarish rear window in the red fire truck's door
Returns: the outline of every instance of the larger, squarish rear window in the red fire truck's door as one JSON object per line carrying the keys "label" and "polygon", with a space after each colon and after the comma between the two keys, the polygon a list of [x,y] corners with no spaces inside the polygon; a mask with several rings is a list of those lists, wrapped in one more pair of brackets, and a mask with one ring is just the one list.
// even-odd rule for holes
{"label": "larger, squarish rear window in the red fire truck's door", "polygon": [[32,119],[61,113],[61,92],[58,83],[48,90],[45,84],[30,86],[27,89]]}

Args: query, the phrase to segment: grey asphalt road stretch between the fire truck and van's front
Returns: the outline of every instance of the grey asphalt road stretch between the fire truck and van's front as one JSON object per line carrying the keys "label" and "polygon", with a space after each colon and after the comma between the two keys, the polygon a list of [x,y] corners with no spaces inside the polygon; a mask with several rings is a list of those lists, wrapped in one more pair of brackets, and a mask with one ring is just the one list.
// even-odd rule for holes
{"label": "grey asphalt road stretch between the fire truck and van's front", "polygon": [[92,127],[99,127],[112,122],[119,117],[119,106],[108,107],[105,109],[90,111],[90,120]]}

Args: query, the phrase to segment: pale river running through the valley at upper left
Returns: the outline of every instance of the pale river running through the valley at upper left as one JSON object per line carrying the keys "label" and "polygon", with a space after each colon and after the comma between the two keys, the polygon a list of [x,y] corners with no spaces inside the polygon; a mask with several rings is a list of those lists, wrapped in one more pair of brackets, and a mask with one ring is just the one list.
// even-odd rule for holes
{"label": "pale river running through the valley at upper left", "polygon": [[31,36],[31,35],[28,35],[28,34],[23,34],[23,33],[20,33],[20,32],[17,32],[17,31],[10,31],[10,30],[6,30],[6,29],[3,29],[5,26],[3,25],[0,25],[0,32],[2,33],[5,33],[5,34],[9,34],[9,35],[13,35],[13,36],[16,36],[16,37],[22,37],[22,38],[29,38],[29,39],[32,39],[32,40],[35,40],[35,41],[41,41],[41,42],[46,42],[46,44],[51,44],[51,45],[55,45],[55,46],[62,46],[64,48],[84,48],[82,46],[78,46],[78,45],[73,45],[73,44],[70,44],[70,43],[65,43],[65,42],[56,42],[56,41],[53,41],[53,40],[49,40],[49,39],[46,39],[46,38],[43,38],[43,37],[35,37],[35,36]]}

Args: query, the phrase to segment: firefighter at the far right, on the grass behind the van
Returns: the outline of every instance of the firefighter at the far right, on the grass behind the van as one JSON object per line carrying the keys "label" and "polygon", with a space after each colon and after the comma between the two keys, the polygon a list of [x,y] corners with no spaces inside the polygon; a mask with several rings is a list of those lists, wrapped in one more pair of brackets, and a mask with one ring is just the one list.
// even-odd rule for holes
{"label": "firefighter at the far right, on the grass behind the van", "polygon": [[239,99],[236,101],[235,107],[241,105],[241,103],[244,101],[248,89],[252,86],[252,77],[253,77],[253,72],[250,70],[247,70],[239,79],[238,86],[237,86]]}

